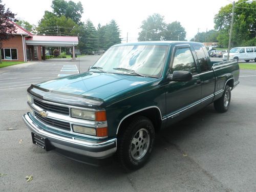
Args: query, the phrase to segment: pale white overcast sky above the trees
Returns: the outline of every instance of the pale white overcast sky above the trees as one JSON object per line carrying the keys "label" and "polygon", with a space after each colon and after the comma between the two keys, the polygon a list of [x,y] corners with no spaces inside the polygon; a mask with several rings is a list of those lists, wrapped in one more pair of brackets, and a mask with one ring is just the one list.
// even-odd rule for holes
{"label": "pale white overcast sky above the trees", "polygon": [[[26,20],[30,24],[37,25],[44,15],[45,10],[52,11],[52,0],[3,0],[6,8],[17,14],[16,18]],[[77,3],[79,1],[73,0]],[[115,19],[121,38],[126,41],[137,41],[142,21],[149,15],[159,13],[164,16],[165,23],[178,21],[185,28],[186,39],[193,38],[197,32],[214,29],[214,16],[220,8],[230,4],[229,0],[130,0],[130,1],[83,1],[83,14],[81,21],[90,19],[94,26],[105,25]]]}

